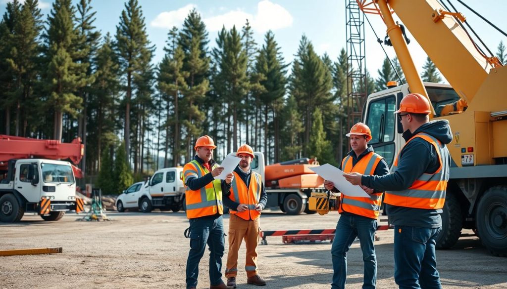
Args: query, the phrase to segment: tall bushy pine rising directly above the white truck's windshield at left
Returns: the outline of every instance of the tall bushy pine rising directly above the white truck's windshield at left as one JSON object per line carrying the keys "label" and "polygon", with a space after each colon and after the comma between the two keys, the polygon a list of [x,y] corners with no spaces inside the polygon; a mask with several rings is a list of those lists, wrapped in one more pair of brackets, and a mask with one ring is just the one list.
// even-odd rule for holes
{"label": "tall bushy pine rising directly above the white truck's windshield at left", "polygon": [[86,65],[77,63],[79,52],[75,50],[77,31],[73,19],[75,10],[70,0],[56,0],[48,16],[45,35],[47,71],[45,90],[48,107],[54,110],[53,138],[62,139],[63,113],[76,117],[82,108],[82,99],[74,94],[86,85],[82,74]]}

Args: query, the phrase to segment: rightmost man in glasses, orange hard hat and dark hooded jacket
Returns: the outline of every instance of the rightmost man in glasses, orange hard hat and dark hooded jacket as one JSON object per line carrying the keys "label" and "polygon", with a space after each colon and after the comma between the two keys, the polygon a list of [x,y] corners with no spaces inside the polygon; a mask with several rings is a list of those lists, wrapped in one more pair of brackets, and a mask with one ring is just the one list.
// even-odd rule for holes
{"label": "rightmost man in glasses, orange hard hat and dark hooded jacket", "polygon": [[397,114],[406,143],[387,176],[351,173],[354,185],[384,190],[389,222],[394,225],[394,280],[400,288],[441,288],[435,255],[442,230],[449,164],[446,144],[452,141],[449,121],[429,121],[428,100],[405,96]]}

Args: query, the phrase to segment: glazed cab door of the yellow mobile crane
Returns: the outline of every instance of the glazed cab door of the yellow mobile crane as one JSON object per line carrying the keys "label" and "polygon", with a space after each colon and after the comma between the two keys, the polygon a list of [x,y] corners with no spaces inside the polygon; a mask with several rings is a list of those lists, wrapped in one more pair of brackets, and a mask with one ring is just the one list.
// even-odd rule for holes
{"label": "glazed cab door of the yellow mobile crane", "polygon": [[[401,100],[403,94],[398,94]],[[401,127],[401,123],[393,114],[397,103],[399,102],[396,101],[395,94],[374,98],[369,101],[365,115],[365,123],[372,131],[372,140],[369,144],[373,146],[376,153],[385,158],[389,168],[397,152],[396,128]]]}

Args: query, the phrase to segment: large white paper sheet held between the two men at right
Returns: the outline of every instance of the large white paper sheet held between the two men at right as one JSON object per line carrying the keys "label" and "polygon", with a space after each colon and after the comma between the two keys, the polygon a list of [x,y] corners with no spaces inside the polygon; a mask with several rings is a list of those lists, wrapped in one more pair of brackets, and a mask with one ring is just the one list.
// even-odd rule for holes
{"label": "large white paper sheet held between the two men at right", "polygon": [[363,190],[360,186],[352,185],[343,177],[344,172],[329,163],[323,164],[320,167],[310,168],[317,175],[321,176],[326,181],[331,181],[335,187],[344,195],[351,197],[370,197],[370,195]]}

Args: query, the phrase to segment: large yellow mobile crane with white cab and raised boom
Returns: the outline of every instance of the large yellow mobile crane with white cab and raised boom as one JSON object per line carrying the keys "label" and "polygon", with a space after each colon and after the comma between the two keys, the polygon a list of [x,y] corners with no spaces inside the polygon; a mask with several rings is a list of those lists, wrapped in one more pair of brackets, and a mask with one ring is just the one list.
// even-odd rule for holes
{"label": "large yellow mobile crane with white cab and raised boom", "polygon": [[[356,0],[365,13],[379,14],[407,84],[368,96],[364,122],[370,144],[392,164],[404,144],[393,112],[408,93],[426,96],[430,118],[448,119],[454,139],[447,147],[452,166],[437,246],[453,246],[461,229],[473,229],[488,250],[507,256],[507,67],[485,55],[462,26],[465,18],[437,0]],[[459,0],[458,0],[459,1]],[[407,48],[411,32],[450,85],[422,82]],[[396,133],[397,132],[397,133]]]}

